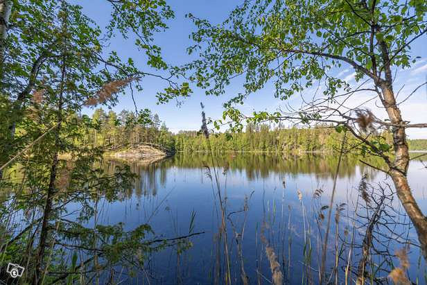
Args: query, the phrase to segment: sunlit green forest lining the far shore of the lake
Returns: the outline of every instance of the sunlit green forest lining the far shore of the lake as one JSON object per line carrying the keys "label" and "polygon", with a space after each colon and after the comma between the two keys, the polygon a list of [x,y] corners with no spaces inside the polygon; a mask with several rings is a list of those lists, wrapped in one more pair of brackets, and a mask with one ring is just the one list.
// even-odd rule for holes
{"label": "sunlit green forest lining the far shore of the lake", "polygon": [[[81,118],[80,118],[81,119]],[[107,146],[108,150],[132,148],[141,143],[159,144],[176,151],[207,151],[209,146],[204,135],[197,130],[170,132],[157,114],[135,115],[123,110],[119,114],[110,110],[95,110],[90,119],[95,126],[85,135],[83,144]],[[264,152],[330,152],[340,146],[342,133],[334,128],[284,128],[280,124],[248,124],[244,132],[211,134],[209,140],[215,152],[264,151]],[[383,135],[390,141],[390,135]],[[350,138],[351,139],[351,138]],[[391,143],[390,143],[391,144]],[[411,150],[427,150],[427,139],[409,140]]]}

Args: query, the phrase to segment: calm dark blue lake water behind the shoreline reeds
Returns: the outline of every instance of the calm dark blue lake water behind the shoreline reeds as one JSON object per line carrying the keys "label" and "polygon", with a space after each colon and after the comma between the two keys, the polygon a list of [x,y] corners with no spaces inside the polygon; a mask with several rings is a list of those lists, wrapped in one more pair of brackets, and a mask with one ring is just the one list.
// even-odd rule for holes
{"label": "calm dark blue lake water behind the shoreline reeds", "polygon": [[[363,223],[363,218],[354,216],[356,201],[360,202],[358,211],[365,205],[358,198],[358,184],[363,175],[366,173],[367,182],[374,186],[378,182],[387,182],[383,173],[373,171],[358,159],[344,157],[338,171],[334,205],[345,205],[342,205],[338,220],[338,239],[335,211],[331,218],[331,243],[326,257],[328,270],[335,263],[337,240],[338,249],[342,250],[341,266],[347,264],[349,255],[342,243],[349,241],[352,235],[354,243],[360,244],[363,239],[365,228],[359,224]],[[272,273],[265,254],[266,246],[274,250],[288,284],[305,283],[306,278],[310,278],[306,274],[308,271],[313,284],[318,283],[319,249],[326,228],[326,218],[322,221],[319,211],[323,205],[329,205],[338,157],[227,154],[216,157],[213,164],[207,155],[178,153],[175,157],[149,165],[127,163],[139,175],[134,189],[123,193],[115,202],[101,201],[98,223],[121,222],[128,230],[148,223],[159,239],[195,234],[189,238],[192,246],[187,250],[180,252],[175,246],[150,254],[146,270],[129,277],[127,283],[223,284],[227,261],[224,243],[220,239],[221,212],[214,166],[225,200],[232,284],[242,284],[242,264],[250,284],[270,284]],[[119,164],[123,162],[106,162],[105,169],[112,171]],[[426,173],[423,162],[413,161],[410,164],[410,184],[424,212],[427,212]],[[316,189],[322,189],[323,193],[313,198]],[[401,209],[396,198],[390,201],[390,205]],[[327,217],[327,209],[323,213]],[[408,218],[404,216],[399,221],[408,224]],[[388,243],[390,252],[403,248],[406,240],[418,243],[410,225],[397,225],[395,230],[406,234],[393,237]],[[387,236],[387,232],[384,235]],[[385,236],[378,236],[378,239],[384,240]],[[309,262],[308,245],[311,246]],[[352,252],[354,264],[360,259],[358,252],[357,248]],[[422,279],[425,264],[424,261],[417,264],[419,256],[419,248],[411,245],[410,277],[414,281],[419,277],[419,284],[426,284]],[[342,284],[343,269],[340,267],[338,273]],[[127,270],[124,268],[123,274],[126,275]],[[386,272],[377,275],[387,277]]]}

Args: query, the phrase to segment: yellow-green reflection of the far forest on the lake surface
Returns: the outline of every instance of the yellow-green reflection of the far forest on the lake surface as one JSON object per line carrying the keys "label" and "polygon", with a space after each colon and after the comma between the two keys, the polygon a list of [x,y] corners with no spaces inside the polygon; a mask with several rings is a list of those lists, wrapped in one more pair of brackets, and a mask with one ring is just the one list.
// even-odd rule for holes
{"label": "yellow-green reflection of the far forest on the lake surface", "polygon": [[[280,156],[267,154],[239,154],[220,155],[215,157],[216,167],[223,172],[227,169],[229,175],[235,177],[244,176],[245,180],[256,181],[269,178],[281,173],[296,179],[298,175],[313,175],[317,179],[332,179],[335,173],[338,157],[321,155],[304,156]],[[381,162],[377,162],[381,163]],[[212,166],[211,158],[204,153],[183,154],[178,153],[174,157],[162,159],[154,163],[138,161],[110,160],[105,163],[105,171],[112,173],[116,166],[129,164],[133,173],[139,177],[134,183],[134,194],[136,196],[157,195],[160,188],[164,188],[168,179],[169,171],[177,169],[203,169],[204,166]],[[360,162],[360,157],[347,156],[342,159],[342,167],[338,171],[338,178],[356,178],[360,173],[369,173],[369,178],[374,179],[378,174],[371,167]],[[177,174],[177,173],[175,173]],[[175,177],[175,176],[174,176]],[[132,192],[127,193],[127,197]]]}

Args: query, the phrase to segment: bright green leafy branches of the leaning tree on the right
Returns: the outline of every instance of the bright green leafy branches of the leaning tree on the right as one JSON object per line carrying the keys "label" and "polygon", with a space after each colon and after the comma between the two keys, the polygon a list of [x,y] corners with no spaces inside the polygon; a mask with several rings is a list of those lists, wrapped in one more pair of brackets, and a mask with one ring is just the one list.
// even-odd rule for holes
{"label": "bright green leafy branches of the leaning tree on the right", "polygon": [[[228,104],[242,103],[272,81],[284,100],[324,79],[333,98],[349,85],[331,75],[333,67],[353,67],[356,80],[387,80],[386,67],[410,67],[410,42],[427,31],[424,1],[245,1],[220,25],[189,14],[198,31],[189,53],[200,60],[186,66],[191,79],[224,94],[236,76],[244,92]],[[388,50],[384,58],[381,53]]]}

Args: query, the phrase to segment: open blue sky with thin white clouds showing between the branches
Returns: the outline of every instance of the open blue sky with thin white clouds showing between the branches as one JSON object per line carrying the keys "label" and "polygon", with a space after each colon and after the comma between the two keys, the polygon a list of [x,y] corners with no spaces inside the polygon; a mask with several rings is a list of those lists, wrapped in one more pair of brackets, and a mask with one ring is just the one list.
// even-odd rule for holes
{"label": "open blue sky with thin white clouds showing between the branches", "polygon": [[[85,14],[98,21],[100,26],[103,26],[110,19],[110,6],[107,5],[105,0],[74,0],[73,2],[80,4]],[[168,1],[168,3],[175,11],[175,19],[168,21],[169,29],[164,33],[156,35],[155,42],[162,47],[164,60],[169,64],[178,65],[189,62],[192,59],[186,54],[186,47],[191,44],[189,34],[194,30],[194,26],[184,15],[191,12],[197,17],[219,23],[241,1],[174,0]],[[401,95],[399,95],[401,98],[404,98],[406,94],[410,94],[417,85],[427,80],[426,44],[427,36],[424,35],[412,45],[413,54],[421,56],[421,59],[415,63],[412,69],[397,72],[395,86],[397,89],[403,87]],[[137,64],[140,64],[143,70],[147,70],[144,64],[146,58],[144,58],[143,53],[137,51],[132,46],[132,39],[123,40],[121,37],[116,37],[110,48],[116,50],[123,58],[132,57]],[[339,75],[340,78],[346,78],[350,84],[356,85],[354,71],[350,67],[343,67],[337,70],[336,75]],[[164,87],[164,83],[153,78],[145,78],[143,80],[144,90],[141,93],[137,93],[135,99],[139,109],[149,108],[154,113],[159,114],[160,119],[166,121],[166,126],[173,132],[177,132],[178,130],[198,130],[201,124],[200,102],[206,106],[205,111],[207,112],[207,116],[210,116],[212,119],[219,119],[223,112],[222,103],[242,90],[241,83],[241,80],[234,81],[227,88],[227,94],[220,97],[205,96],[202,89],[193,87],[194,94],[191,98],[187,98],[183,105],[178,107],[174,101],[157,105],[155,94]],[[358,97],[358,102],[352,103],[357,104],[362,102],[365,98],[370,98],[369,96],[369,94],[365,96],[361,94]],[[378,108],[378,103],[378,100],[371,101],[366,107],[380,118],[385,118],[385,112],[381,108]],[[253,110],[274,111],[277,110],[277,107],[284,107],[287,104],[298,107],[301,104],[299,95],[294,96],[290,101],[279,101],[273,96],[272,86],[268,85],[261,92],[250,96],[241,109],[243,112],[249,114]],[[349,107],[351,107],[351,103]],[[134,110],[130,94],[121,96],[119,104],[113,107],[113,110],[116,112],[120,112],[123,109]],[[427,88],[421,87],[418,92],[401,105],[401,109],[403,118],[407,121],[411,121],[412,123],[426,123]],[[87,109],[83,112],[85,114],[92,114],[93,110]],[[412,139],[427,139],[427,130],[408,130],[408,135]]]}

